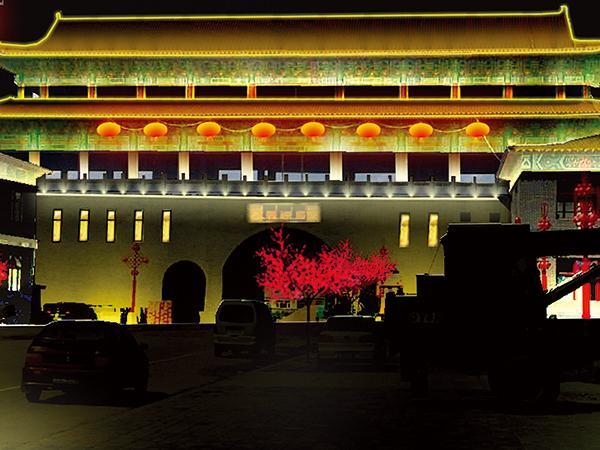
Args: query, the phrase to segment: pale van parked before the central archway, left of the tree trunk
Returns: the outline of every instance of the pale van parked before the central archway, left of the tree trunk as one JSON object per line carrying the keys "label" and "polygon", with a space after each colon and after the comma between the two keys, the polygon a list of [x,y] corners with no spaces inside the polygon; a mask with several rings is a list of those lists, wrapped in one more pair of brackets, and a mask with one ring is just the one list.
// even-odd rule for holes
{"label": "pale van parked before the central archway, left of the tree trunk", "polygon": [[231,350],[258,355],[275,352],[275,325],[266,303],[258,300],[223,300],[214,328],[215,356]]}

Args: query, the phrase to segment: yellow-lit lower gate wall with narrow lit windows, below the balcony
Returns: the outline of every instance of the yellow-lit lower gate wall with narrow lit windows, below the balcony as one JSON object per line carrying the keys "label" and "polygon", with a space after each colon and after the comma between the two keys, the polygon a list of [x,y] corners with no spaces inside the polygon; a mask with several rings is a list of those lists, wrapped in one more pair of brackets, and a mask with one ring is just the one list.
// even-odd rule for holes
{"label": "yellow-lit lower gate wall with narrow lit windows, below the balcony", "polygon": [[[268,229],[271,224],[251,224],[246,218],[248,203],[284,201],[279,199],[144,197],[128,195],[38,195],[38,238],[36,282],[46,285],[43,303],[78,301],[99,307],[100,318],[118,319],[118,309],[131,304],[131,276],[122,258],[130,253],[133,211],[144,210],[142,253],[149,263],[140,269],[137,305],[161,300],[162,278],[175,262],[189,260],[206,275],[205,311],[202,322],[214,321],[221,300],[221,272],[227,257],[246,238]],[[290,224],[308,231],[328,244],[350,239],[365,254],[382,246],[398,264],[398,275],[407,293],[416,291],[415,275],[443,272],[443,250],[427,246],[429,213],[439,213],[440,236],[448,223],[459,222],[461,212],[470,212],[472,222],[488,222],[490,213],[499,213],[501,222],[510,221],[509,211],[493,199],[318,199],[321,222]],[[285,203],[294,200],[285,199]],[[61,242],[51,242],[53,209],[63,210]],[[78,242],[80,209],[90,210],[90,240]],[[106,242],[106,210],[117,211],[116,242]],[[163,244],[162,210],[172,211],[171,242]],[[409,213],[410,245],[399,248],[400,214]],[[436,255],[437,251],[437,255]],[[435,261],[434,261],[435,256]],[[433,263],[432,263],[433,262]],[[116,308],[116,311],[114,311]]]}

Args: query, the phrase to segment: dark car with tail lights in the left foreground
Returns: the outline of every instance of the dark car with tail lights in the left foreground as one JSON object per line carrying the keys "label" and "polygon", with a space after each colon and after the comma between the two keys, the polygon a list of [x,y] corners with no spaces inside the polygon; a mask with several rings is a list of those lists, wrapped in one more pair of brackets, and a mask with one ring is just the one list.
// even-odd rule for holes
{"label": "dark car with tail lights in the left foreground", "polygon": [[44,390],[133,388],[146,391],[145,345],[114,322],[61,320],[46,325],[27,350],[21,390],[38,401]]}

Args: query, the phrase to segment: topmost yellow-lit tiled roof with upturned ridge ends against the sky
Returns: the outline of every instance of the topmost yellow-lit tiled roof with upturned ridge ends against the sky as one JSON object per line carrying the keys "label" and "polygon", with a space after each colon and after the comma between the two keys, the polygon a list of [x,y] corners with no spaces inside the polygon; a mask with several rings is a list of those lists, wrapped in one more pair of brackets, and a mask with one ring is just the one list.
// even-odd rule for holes
{"label": "topmost yellow-lit tiled roof with upturned ridge ends against the sky", "polygon": [[597,52],[545,13],[62,17],[14,56],[449,56]]}

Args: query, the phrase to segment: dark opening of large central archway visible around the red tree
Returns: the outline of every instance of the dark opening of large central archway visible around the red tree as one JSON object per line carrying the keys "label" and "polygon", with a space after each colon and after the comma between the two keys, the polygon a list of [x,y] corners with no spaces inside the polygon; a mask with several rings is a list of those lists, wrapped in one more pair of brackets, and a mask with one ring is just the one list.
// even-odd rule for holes
{"label": "dark opening of large central archway visible around the red tree", "polygon": [[[309,255],[317,254],[325,243],[315,235],[295,228],[284,228],[293,245],[306,246]],[[262,289],[256,284],[260,264],[256,251],[271,241],[271,230],[264,230],[238,245],[223,265],[223,298],[264,300]]]}

